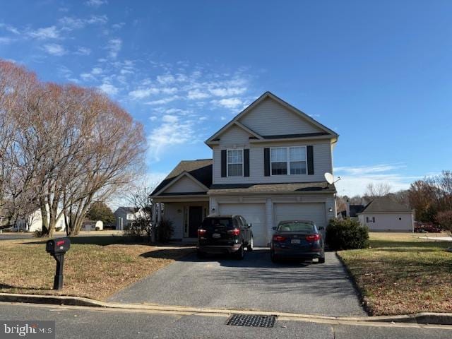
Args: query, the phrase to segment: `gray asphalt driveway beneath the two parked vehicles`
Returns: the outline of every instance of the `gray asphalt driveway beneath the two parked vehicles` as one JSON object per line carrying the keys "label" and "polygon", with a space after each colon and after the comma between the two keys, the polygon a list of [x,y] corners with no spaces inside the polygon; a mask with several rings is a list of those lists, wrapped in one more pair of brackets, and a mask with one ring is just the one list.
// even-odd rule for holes
{"label": "gray asphalt driveway beneath the two parked vehicles", "polygon": [[272,263],[268,249],[227,256],[186,256],[109,301],[188,307],[256,309],[330,316],[365,316],[342,263],[333,252],[326,263]]}

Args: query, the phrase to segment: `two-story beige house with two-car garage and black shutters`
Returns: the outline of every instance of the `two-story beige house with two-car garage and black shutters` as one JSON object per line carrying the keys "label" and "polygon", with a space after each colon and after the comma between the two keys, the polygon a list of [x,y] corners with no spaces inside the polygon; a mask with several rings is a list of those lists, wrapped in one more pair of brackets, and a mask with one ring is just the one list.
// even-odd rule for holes
{"label": "two-story beige house with two-car garage and black shutters", "polygon": [[338,134],[266,92],[213,134],[213,160],[179,162],[153,191],[174,222],[174,239],[195,238],[206,215],[243,215],[254,244],[266,246],[281,220],[326,227],[336,215],[333,172]]}

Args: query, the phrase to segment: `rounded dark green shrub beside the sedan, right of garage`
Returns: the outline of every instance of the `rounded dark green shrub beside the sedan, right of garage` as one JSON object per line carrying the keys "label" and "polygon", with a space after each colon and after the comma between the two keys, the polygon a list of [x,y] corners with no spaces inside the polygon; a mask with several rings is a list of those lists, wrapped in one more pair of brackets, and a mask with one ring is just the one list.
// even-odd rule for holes
{"label": "rounded dark green shrub beside the sedan, right of garage", "polygon": [[366,249],[369,247],[369,229],[350,218],[331,219],[326,227],[325,242],[333,251]]}

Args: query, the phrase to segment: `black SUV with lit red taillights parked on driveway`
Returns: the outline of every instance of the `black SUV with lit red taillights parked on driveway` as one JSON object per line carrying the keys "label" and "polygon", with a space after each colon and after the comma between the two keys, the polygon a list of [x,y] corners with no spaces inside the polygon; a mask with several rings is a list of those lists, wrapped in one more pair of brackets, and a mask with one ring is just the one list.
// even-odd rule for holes
{"label": "black SUV with lit red taillights parked on driveway", "polygon": [[243,259],[245,246],[248,251],[253,250],[253,232],[242,215],[208,216],[198,228],[198,257],[228,253]]}

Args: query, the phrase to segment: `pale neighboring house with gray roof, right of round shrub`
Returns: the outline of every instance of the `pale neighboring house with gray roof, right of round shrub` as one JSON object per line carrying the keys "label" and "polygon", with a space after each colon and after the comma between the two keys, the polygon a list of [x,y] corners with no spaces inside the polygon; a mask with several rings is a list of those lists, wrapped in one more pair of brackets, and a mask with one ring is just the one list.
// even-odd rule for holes
{"label": "pale neighboring house with gray roof, right of round shrub", "polygon": [[375,198],[358,213],[359,222],[371,231],[413,232],[414,212],[391,198]]}

